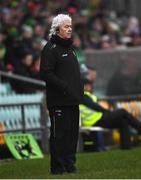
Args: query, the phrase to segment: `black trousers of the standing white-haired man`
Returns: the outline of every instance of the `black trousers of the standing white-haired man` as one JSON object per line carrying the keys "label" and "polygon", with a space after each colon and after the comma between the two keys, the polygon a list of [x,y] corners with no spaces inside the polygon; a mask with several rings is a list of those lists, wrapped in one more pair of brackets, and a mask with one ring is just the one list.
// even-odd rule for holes
{"label": "black trousers of the standing white-haired man", "polygon": [[49,109],[51,172],[64,172],[74,167],[79,131],[79,106]]}

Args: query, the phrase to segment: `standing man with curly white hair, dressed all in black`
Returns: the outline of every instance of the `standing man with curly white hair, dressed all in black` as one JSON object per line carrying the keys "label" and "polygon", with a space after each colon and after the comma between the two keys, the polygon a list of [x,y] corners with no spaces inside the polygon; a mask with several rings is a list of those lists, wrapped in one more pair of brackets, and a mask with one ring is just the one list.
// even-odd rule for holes
{"label": "standing man with curly white hair, dressed all in black", "polygon": [[52,174],[76,171],[75,154],[83,83],[71,36],[71,17],[57,15],[53,18],[49,41],[41,55],[40,74],[46,81],[47,106],[51,119]]}

